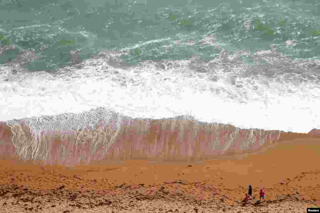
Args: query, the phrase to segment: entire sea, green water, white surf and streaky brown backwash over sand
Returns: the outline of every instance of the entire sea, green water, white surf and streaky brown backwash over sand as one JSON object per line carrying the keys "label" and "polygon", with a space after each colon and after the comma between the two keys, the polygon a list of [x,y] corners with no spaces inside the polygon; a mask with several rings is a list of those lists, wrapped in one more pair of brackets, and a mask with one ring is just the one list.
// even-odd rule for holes
{"label": "entire sea, green water, white surf and streaky brown backwash over sand", "polygon": [[0,5],[4,155],[205,158],[320,129],[318,3]]}

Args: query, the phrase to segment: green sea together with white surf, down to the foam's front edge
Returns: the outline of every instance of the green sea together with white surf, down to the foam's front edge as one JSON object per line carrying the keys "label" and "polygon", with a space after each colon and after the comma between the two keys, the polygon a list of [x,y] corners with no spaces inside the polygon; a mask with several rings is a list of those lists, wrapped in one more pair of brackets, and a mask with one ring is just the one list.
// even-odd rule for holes
{"label": "green sea together with white surf, down to the foam's front edge", "polygon": [[316,0],[0,0],[0,121],[105,107],[320,128],[319,11]]}

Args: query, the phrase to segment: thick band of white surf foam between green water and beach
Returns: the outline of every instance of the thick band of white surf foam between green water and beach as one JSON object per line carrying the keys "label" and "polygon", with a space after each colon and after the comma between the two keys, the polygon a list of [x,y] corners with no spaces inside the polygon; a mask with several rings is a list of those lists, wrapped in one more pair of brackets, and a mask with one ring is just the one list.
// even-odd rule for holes
{"label": "thick band of white surf foam between green water and beach", "polygon": [[210,80],[210,74],[190,70],[189,63],[164,61],[165,69],[159,70],[147,61],[120,69],[103,58],[93,58],[80,70],[68,68],[55,76],[46,72],[13,75],[1,66],[0,73],[10,80],[0,82],[0,120],[80,113],[103,106],[134,118],[187,114],[243,128],[301,133],[320,128],[317,81],[295,83],[294,76],[288,81],[285,74],[241,77],[245,66],[230,74],[219,65],[212,71],[219,78]]}

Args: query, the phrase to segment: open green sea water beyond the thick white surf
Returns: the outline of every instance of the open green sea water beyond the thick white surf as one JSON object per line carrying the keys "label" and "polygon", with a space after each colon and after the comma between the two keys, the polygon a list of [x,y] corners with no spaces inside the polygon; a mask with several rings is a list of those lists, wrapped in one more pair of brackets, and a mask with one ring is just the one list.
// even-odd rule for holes
{"label": "open green sea water beyond the thick white surf", "polygon": [[[316,0],[2,0],[0,40],[40,55],[24,65],[29,70],[68,65],[75,49],[86,59],[101,50],[127,48],[131,54],[123,59],[139,63],[195,55],[211,60],[221,49],[254,54],[273,44],[292,60],[319,59],[319,11]],[[214,41],[201,42],[205,37]],[[287,40],[295,45],[285,45]],[[18,55],[18,49],[6,50],[0,63]]]}

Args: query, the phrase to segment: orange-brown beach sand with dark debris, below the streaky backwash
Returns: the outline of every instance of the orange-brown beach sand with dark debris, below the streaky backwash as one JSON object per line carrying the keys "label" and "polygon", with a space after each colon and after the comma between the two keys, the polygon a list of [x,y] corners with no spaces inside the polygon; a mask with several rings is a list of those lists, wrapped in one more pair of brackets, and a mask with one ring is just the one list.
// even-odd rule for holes
{"label": "orange-brown beach sand with dark debris, below the streaky backwash", "polygon": [[[320,139],[293,138],[198,162],[4,159],[0,212],[306,212],[320,206]],[[256,197],[243,205],[249,184]],[[255,204],[262,187],[266,202]]]}

